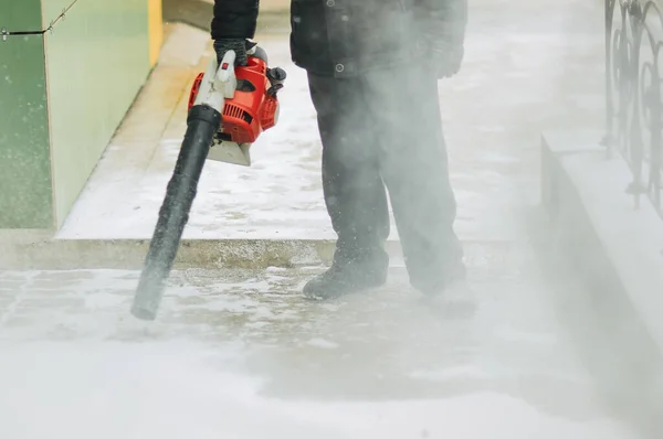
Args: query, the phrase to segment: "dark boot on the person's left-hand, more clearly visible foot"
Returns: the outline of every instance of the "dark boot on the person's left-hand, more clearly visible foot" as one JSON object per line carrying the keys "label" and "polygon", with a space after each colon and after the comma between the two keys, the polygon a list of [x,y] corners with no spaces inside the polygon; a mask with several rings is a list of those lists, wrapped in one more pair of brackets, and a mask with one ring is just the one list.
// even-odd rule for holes
{"label": "dark boot on the person's left-hand, more clearly visible foot", "polygon": [[377,288],[387,282],[389,256],[385,251],[368,257],[335,255],[332,267],[304,286],[304,296],[332,299]]}

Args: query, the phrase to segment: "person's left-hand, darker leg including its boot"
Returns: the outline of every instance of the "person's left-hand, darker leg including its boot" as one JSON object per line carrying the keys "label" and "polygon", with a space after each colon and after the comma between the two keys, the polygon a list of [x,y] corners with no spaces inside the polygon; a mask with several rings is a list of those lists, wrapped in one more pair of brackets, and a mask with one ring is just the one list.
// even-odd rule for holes
{"label": "person's left-hand, darker leg including its boot", "polygon": [[333,297],[386,281],[389,211],[360,82],[309,75],[323,142],[323,189],[338,235],[334,265],[304,292]]}

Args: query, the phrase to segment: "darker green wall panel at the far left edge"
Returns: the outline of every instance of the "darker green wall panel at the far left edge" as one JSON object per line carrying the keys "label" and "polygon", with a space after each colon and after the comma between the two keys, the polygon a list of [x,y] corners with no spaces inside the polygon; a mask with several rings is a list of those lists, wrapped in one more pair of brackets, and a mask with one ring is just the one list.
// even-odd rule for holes
{"label": "darker green wall panel at the far left edge", "polygon": [[[39,0],[0,0],[0,28],[41,23]],[[43,39],[0,41],[0,228],[53,225],[46,115]]]}

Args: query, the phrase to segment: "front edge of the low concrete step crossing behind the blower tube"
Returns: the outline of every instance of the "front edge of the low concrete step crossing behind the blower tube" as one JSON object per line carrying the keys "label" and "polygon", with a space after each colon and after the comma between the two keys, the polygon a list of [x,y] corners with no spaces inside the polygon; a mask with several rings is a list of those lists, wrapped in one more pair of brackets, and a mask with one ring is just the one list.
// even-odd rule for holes
{"label": "front edge of the low concrete step crossing behind the blower tube", "polygon": [[[334,256],[332,239],[182,239],[175,269],[219,269],[267,267],[294,268],[328,265]],[[485,258],[481,251],[492,248],[511,251],[518,243],[463,242],[469,264]],[[17,235],[0,231],[0,270],[140,270],[149,239],[57,239],[41,232]],[[386,246],[393,266],[402,266],[401,246]],[[483,263],[483,259],[482,259]]]}

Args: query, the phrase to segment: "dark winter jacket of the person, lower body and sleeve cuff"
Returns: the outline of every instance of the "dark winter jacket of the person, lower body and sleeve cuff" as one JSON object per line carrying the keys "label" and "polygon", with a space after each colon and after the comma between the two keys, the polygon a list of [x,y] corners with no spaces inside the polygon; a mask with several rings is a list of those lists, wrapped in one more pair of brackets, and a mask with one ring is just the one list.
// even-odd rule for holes
{"label": "dark winter jacket of the person, lower body and sleeve cuff", "polygon": [[[427,38],[463,43],[466,1],[292,0],[293,62],[337,77],[420,62]],[[253,38],[257,10],[257,0],[215,0],[212,39]]]}

